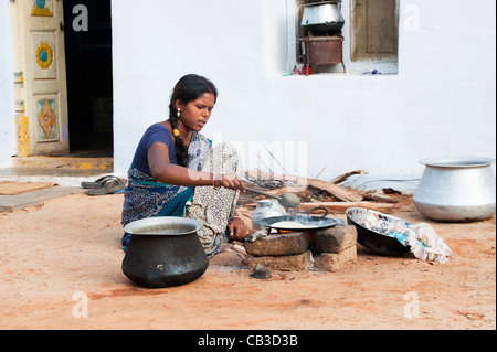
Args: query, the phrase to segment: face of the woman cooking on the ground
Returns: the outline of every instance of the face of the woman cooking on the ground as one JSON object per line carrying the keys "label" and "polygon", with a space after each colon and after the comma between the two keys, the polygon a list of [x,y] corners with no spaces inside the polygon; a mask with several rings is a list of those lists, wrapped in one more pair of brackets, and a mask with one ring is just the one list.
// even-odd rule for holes
{"label": "face of the woman cooking on the ground", "polygon": [[187,129],[200,131],[211,117],[214,108],[215,97],[212,93],[204,93],[197,100],[183,105],[181,100],[176,102],[176,108],[181,111],[178,124],[182,124]]}

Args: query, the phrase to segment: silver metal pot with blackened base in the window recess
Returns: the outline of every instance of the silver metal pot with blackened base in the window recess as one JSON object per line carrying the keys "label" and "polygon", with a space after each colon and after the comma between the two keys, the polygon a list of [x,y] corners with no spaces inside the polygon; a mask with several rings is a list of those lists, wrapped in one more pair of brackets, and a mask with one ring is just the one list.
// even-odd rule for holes
{"label": "silver metal pot with blackened base in the window recess", "polygon": [[300,26],[307,34],[331,34],[343,28],[345,20],[340,12],[341,0],[303,4],[304,12]]}

